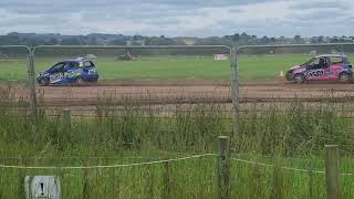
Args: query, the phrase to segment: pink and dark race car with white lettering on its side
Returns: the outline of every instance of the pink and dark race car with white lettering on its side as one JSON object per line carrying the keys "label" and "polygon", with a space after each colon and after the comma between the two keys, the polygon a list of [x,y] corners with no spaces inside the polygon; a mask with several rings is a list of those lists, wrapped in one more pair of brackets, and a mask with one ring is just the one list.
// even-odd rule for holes
{"label": "pink and dark race car with white lettering on its side", "polygon": [[285,75],[288,81],[301,84],[308,81],[352,82],[352,64],[344,54],[314,56],[306,63],[291,67]]}

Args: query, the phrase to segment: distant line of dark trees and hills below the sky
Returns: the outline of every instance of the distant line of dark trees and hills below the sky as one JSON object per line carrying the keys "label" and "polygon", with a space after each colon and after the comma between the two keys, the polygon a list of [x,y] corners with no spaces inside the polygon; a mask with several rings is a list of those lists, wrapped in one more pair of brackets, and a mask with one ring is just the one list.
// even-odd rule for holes
{"label": "distant line of dark trees and hills below the sky", "polygon": [[0,35],[0,45],[250,45],[250,44],[304,44],[304,43],[352,43],[354,36],[257,36],[246,32],[209,38],[168,38],[101,34],[61,35],[12,32]]}

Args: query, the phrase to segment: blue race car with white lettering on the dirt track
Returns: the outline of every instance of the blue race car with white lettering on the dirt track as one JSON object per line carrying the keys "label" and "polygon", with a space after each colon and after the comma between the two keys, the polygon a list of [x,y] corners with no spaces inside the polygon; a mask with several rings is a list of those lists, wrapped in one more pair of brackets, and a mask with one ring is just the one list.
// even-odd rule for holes
{"label": "blue race car with white lettering on the dirt track", "polygon": [[67,60],[59,62],[37,76],[41,86],[50,84],[82,84],[84,82],[97,82],[96,66],[88,60]]}

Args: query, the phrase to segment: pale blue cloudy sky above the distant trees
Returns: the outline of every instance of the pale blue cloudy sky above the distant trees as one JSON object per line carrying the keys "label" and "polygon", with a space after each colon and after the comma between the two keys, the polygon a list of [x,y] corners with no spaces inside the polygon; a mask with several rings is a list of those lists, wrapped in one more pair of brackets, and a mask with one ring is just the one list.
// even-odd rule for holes
{"label": "pale blue cloudy sky above the distant trees", "polygon": [[353,0],[0,0],[9,32],[354,35]]}

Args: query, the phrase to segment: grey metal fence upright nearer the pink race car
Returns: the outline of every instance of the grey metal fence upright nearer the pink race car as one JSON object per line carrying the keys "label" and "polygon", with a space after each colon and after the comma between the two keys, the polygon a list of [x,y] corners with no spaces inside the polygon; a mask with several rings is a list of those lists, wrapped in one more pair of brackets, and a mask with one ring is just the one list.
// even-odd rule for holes
{"label": "grey metal fence upright nearer the pink race car", "polygon": [[236,111],[239,109],[239,80],[237,67],[237,48],[230,50],[230,66],[231,66],[231,97]]}

